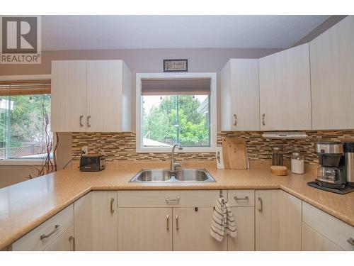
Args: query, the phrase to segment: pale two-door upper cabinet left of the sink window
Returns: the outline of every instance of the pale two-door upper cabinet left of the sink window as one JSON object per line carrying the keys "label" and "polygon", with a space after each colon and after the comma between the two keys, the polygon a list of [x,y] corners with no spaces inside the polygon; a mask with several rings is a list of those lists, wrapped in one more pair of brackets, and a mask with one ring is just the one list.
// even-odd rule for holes
{"label": "pale two-door upper cabinet left of the sink window", "polygon": [[52,62],[55,132],[131,131],[132,76],[122,60]]}

